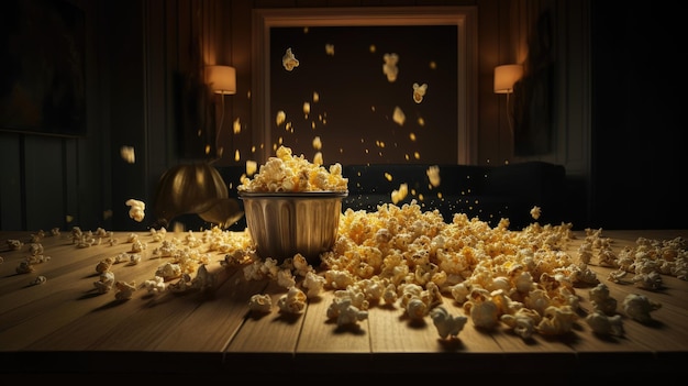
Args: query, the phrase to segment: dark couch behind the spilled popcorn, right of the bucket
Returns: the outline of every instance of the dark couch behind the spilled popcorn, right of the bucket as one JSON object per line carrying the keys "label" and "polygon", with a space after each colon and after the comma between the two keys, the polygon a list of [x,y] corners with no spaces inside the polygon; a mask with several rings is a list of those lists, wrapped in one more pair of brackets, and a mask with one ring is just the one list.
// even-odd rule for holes
{"label": "dark couch behind the spilled popcorn, right of the bucket", "polygon": [[[344,208],[373,211],[392,202],[391,192],[408,184],[407,197],[399,206],[415,199],[423,210],[437,209],[446,222],[454,213],[496,227],[502,218],[509,229],[520,230],[535,220],[531,209],[539,206],[541,224],[559,224],[564,218],[566,173],[564,166],[545,162],[524,162],[502,166],[436,165],[440,185],[432,187],[430,164],[345,165],[348,197]],[[391,179],[387,177],[388,174]],[[439,195],[441,194],[441,195]]]}

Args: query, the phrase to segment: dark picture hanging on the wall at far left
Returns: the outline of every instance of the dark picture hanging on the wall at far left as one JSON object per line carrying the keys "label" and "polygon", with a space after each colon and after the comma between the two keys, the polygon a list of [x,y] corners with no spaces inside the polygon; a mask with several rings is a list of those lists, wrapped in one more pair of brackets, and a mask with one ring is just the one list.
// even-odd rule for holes
{"label": "dark picture hanging on the wall at far left", "polygon": [[86,135],[85,11],[66,0],[0,9],[0,131]]}

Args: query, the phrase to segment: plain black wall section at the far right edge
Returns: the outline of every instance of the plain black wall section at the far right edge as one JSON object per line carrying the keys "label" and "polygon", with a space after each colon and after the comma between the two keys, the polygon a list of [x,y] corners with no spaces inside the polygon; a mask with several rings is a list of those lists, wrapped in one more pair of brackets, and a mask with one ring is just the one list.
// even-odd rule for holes
{"label": "plain black wall section at the far right edge", "polygon": [[685,51],[675,9],[591,1],[591,225],[684,229]]}

